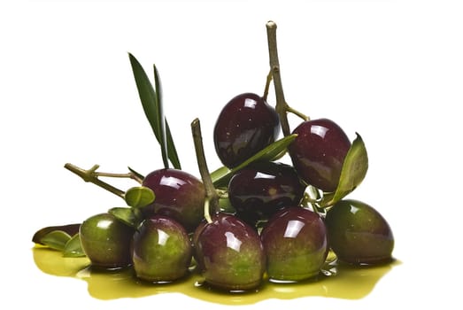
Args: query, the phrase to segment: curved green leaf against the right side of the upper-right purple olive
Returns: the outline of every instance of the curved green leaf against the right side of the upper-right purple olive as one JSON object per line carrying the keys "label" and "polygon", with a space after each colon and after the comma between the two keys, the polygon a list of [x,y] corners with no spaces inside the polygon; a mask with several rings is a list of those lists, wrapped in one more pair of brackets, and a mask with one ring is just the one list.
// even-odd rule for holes
{"label": "curved green leaf against the right side of the upper-right purple olive", "polygon": [[362,137],[358,133],[356,135],[357,137],[352,142],[351,148],[347,151],[344,159],[336,191],[334,195],[327,196],[329,200],[325,199],[328,203],[324,204],[324,206],[334,205],[337,201],[347,196],[359,186],[367,174],[367,148],[365,147],[365,143],[363,143]]}

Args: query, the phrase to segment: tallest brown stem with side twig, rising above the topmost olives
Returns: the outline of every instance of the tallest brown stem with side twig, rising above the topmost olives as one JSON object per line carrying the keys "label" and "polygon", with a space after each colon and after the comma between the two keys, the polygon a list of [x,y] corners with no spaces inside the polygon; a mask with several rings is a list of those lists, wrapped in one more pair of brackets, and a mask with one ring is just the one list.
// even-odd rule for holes
{"label": "tallest brown stem with side twig, rising above the topmost olives", "polygon": [[[280,71],[280,61],[278,60],[278,48],[276,44],[276,23],[272,20],[269,20],[266,23],[266,35],[268,42],[268,54],[270,59],[270,73],[272,74],[272,77],[274,79],[274,88],[276,96],[275,111],[280,116],[283,135],[289,136],[290,128],[287,114],[288,112],[296,114],[303,120],[309,120],[309,118],[305,116],[304,113],[297,112],[295,109],[289,107],[288,103],[284,98],[282,74]],[[268,77],[267,81],[269,81]]]}

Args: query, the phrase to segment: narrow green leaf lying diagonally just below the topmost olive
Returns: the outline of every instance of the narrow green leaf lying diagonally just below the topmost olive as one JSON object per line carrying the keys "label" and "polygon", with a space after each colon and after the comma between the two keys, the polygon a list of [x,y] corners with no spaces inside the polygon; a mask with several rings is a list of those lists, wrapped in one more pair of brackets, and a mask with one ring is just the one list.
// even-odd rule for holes
{"label": "narrow green leaf lying diagonally just below the topmost olive", "polygon": [[226,187],[228,181],[235,172],[243,167],[250,165],[255,161],[272,161],[274,159],[279,159],[282,157],[282,153],[287,151],[288,145],[294,141],[297,137],[296,134],[285,136],[282,139],[275,141],[274,143],[269,144],[266,148],[258,151],[256,154],[251,156],[251,158],[246,159],[233,169],[228,169],[228,167],[220,167],[219,169],[212,172],[212,182],[215,187]]}

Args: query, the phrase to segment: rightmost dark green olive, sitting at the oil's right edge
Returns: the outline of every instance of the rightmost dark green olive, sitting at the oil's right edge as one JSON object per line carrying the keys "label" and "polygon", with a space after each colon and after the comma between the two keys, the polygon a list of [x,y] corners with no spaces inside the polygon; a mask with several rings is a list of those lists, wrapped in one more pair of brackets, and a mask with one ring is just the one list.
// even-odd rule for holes
{"label": "rightmost dark green olive, sitting at the oil's right edge", "polygon": [[350,264],[380,264],[392,259],[394,236],[389,223],[371,205],[345,199],[327,213],[331,249]]}

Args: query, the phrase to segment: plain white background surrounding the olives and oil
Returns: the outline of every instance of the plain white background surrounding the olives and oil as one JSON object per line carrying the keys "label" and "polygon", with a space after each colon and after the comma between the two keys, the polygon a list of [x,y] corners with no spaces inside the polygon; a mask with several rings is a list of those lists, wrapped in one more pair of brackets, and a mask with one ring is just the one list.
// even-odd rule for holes
{"label": "plain white background surrounding the olives and oil", "polygon": [[83,281],[38,270],[30,239],[122,203],[66,162],[143,174],[162,166],[127,52],[149,74],[158,66],[182,166],[199,175],[189,124],[201,120],[209,167],[219,167],[215,118],[236,94],[263,91],[273,19],[289,105],[362,135],[370,168],[351,197],[388,219],[402,263],[359,300],[243,308],[460,308],[462,16],[459,1],[2,2],[0,303],[220,308],[183,295],[92,298]]}

